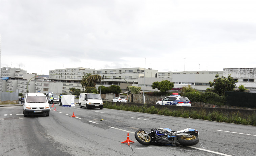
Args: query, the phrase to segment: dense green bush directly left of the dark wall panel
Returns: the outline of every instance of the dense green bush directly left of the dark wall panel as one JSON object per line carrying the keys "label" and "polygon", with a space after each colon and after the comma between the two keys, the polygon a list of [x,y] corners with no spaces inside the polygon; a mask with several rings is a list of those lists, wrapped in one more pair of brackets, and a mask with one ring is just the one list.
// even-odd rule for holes
{"label": "dense green bush directly left of the dark wall panel", "polygon": [[219,96],[218,94],[213,92],[205,92],[201,94],[201,101],[204,103],[224,105],[225,100],[226,100],[225,96]]}

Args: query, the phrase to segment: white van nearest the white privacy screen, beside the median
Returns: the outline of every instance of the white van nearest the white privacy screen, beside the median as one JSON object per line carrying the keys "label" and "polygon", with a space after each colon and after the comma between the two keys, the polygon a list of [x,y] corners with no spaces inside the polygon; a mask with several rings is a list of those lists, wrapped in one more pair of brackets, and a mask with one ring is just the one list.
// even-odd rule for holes
{"label": "white van nearest the white privacy screen, beside the median", "polygon": [[81,93],[79,95],[78,103],[80,108],[100,108],[101,110],[103,108],[103,101],[100,97],[100,94]]}

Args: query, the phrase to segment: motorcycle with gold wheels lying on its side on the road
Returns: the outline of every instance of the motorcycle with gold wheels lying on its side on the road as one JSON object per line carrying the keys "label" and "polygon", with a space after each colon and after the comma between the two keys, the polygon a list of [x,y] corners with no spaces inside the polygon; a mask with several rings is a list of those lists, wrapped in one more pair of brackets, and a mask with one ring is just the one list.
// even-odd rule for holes
{"label": "motorcycle with gold wheels lying on its side on the road", "polygon": [[142,145],[192,146],[199,142],[198,131],[191,128],[180,131],[172,131],[169,128],[154,128],[150,132],[139,129],[135,132],[135,138]]}

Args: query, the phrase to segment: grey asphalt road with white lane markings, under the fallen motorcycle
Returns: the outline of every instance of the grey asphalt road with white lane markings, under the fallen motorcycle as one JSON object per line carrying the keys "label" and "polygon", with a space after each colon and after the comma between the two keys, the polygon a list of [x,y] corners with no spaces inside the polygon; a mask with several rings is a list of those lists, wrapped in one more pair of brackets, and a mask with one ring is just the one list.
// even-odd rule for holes
{"label": "grey asphalt road with white lane markings, under the fallen motorcycle", "polygon": [[[253,156],[256,127],[99,108],[86,110],[54,104],[50,116],[22,115],[22,106],[0,107],[0,155],[84,156]],[[56,108],[56,111],[53,111]],[[75,117],[70,117],[74,113]],[[103,120],[102,120],[103,119]],[[199,131],[199,144],[144,146],[134,137],[137,129],[170,128]],[[121,144],[129,137],[135,143]]]}

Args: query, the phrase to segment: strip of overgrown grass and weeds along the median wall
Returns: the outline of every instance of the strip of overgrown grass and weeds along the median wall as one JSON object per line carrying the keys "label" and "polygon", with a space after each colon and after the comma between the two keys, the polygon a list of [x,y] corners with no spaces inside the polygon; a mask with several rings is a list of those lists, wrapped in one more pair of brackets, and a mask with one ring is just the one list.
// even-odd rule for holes
{"label": "strip of overgrown grass and weeds along the median wall", "polygon": [[114,110],[141,112],[141,113],[158,114],[158,115],[173,116],[173,117],[193,118],[193,119],[256,126],[256,114],[243,117],[241,113],[239,113],[239,111],[237,111],[236,113],[230,113],[230,114],[223,114],[223,113],[220,113],[219,111],[213,111],[207,114],[207,112],[203,109],[200,111],[196,111],[196,110],[171,111],[167,108],[159,109],[159,108],[156,108],[155,106],[147,107],[146,104],[144,104],[143,106],[137,106],[137,105],[130,106],[126,104],[116,105],[116,103],[113,104],[112,102],[104,103],[103,107],[114,109]]}

